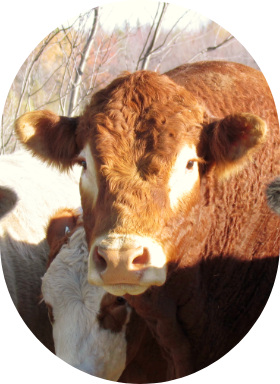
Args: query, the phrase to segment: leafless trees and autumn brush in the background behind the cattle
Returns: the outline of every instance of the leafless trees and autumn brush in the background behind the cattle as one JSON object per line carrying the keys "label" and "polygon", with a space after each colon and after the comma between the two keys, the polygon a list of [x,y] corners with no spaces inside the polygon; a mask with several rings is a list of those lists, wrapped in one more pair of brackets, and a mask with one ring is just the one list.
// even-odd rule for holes
{"label": "leafless trees and autumn brush in the background behind the cattle", "polygon": [[19,147],[13,127],[20,115],[44,108],[60,115],[78,115],[92,93],[123,70],[165,72],[197,59],[231,60],[258,68],[245,47],[219,24],[212,21],[197,31],[190,30],[190,19],[185,18],[190,10],[182,11],[166,28],[170,7],[159,2],[150,24],[132,26],[126,21],[123,28],[115,26],[110,33],[100,24],[103,8],[96,7],[50,32],[12,83],[0,126],[0,154]]}

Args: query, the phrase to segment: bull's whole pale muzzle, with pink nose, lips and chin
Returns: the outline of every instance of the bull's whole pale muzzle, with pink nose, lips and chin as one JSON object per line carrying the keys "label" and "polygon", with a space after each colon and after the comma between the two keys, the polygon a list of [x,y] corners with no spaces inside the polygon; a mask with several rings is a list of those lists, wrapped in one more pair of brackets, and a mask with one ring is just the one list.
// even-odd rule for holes
{"label": "bull's whole pale muzzle, with pink nose, lips and chin", "polygon": [[114,295],[140,294],[166,280],[166,255],[158,243],[136,235],[97,238],[89,254],[88,281]]}

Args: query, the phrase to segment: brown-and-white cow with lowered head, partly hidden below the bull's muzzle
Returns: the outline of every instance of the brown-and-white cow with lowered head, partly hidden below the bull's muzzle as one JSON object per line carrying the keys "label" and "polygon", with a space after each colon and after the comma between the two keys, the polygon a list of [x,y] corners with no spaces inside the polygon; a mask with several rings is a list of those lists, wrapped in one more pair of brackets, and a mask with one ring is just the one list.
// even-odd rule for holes
{"label": "brown-and-white cow with lowered head, partly hidden below the bull's muzzle", "polygon": [[[122,297],[87,280],[88,246],[81,214],[60,209],[47,229],[43,300],[56,356],[82,372],[120,383],[164,382],[166,362],[143,319]],[[65,229],[72,231],[65,235]]]}

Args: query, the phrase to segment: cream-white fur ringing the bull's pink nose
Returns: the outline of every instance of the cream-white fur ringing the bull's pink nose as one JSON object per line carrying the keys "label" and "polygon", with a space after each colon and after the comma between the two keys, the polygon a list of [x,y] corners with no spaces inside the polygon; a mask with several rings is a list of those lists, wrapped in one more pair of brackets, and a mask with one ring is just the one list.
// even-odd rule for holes
{"label": "cream-white fur ringing the bull's pink nose", "polygon": [[[116,252],[139,247],[147,248],[150,255],[149,263],[139,267],[137,264],[129,264],[127,260],[126,266],[121,267],[122,269],[116,265],[114,266],[115,275],[124,275],[125,282],[106,284],[102,278],[103,273],[97,271],[93,260],[92,255],[96,246],[103,249],[116,250]],[[102,286],[112,295],[122,296],[126,293],[139,295],[145,292],[151,285],[160,286],[164,284],[167,273],[166,262],[167,258],[161,245],[149,237],[132,234],[104,234],[97,237],[91,246],[88,262],[88,281],[90,284]],[[106,270],[104,272],[106,273]]]}

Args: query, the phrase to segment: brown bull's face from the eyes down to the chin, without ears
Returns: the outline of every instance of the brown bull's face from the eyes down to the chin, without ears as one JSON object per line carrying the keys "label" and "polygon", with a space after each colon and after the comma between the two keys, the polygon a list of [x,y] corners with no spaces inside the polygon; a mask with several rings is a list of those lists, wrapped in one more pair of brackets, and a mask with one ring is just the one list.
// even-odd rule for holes
{"label": "brown bull's face from the eyes down to the chin, without ears", "polygon": [[125,159],[117,148],[111,163],[106,156],[105,164],[99,162],[90,143],[78,157],[83,165],[80,191],[89,244],[88,278],[115,295],[140,294],[165,282],[168,223],[179,208],[187,210],[198,198],[200,159],[195,146],[185,144],[157,171],[146,165],[144,175],[137,166],[142,157],[134,160],[130,151]]}

